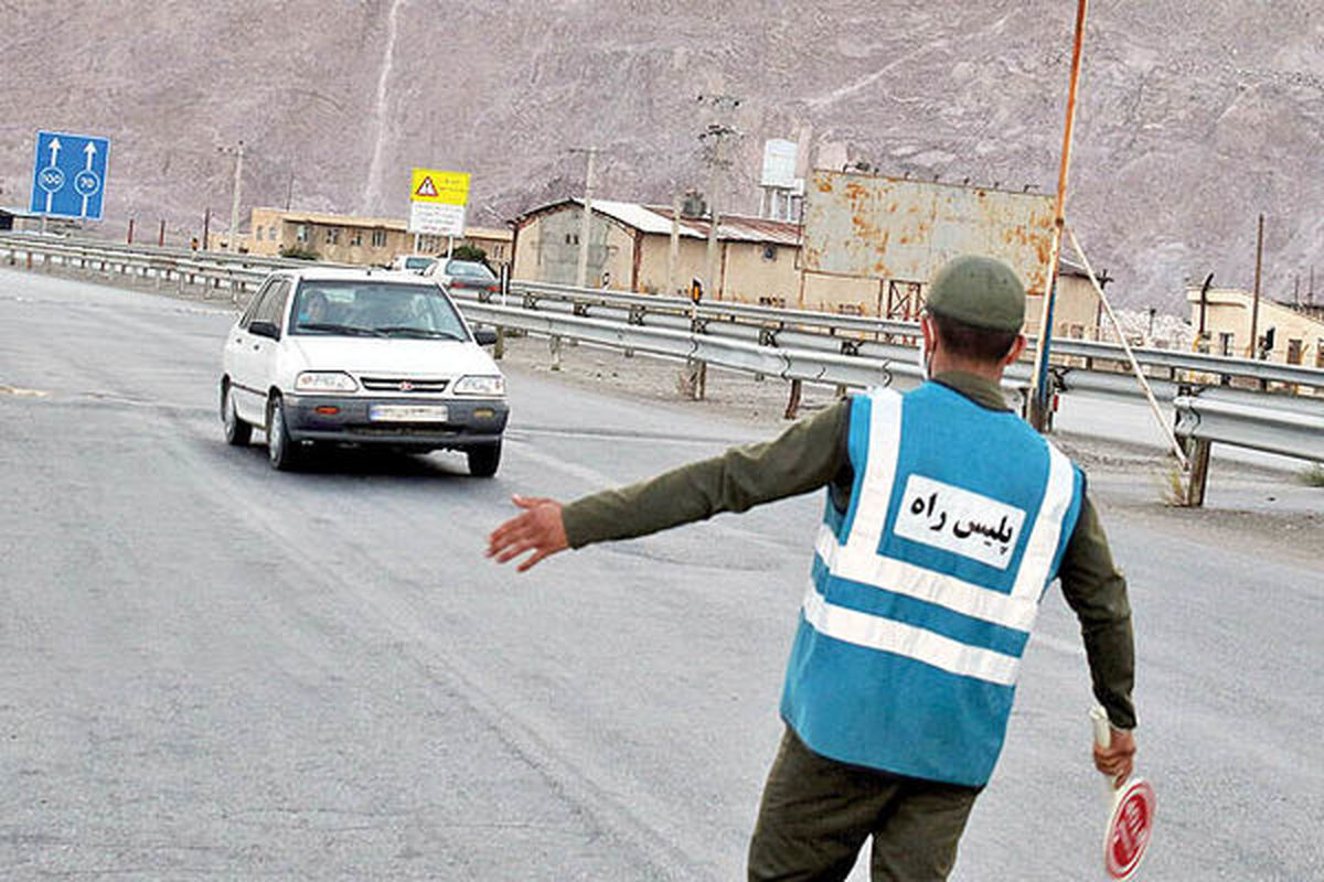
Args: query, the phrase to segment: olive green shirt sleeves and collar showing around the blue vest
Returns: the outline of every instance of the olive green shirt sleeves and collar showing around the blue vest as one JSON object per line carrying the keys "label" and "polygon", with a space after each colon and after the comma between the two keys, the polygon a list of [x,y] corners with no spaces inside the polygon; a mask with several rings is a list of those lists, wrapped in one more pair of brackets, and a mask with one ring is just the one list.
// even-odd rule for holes
{"label": "olive green shirt sleeves and collar showing around the blue vest", "polygon": [[[947,372],[933,380],[982,407],[1009,410],[1002,390],[984,377]],[[846,454],[849,423],[850,402],[841,401],[771,442],[732,447],[720,456],[638,484],[575,500],[563,510],[567,540],[577,549],[646,536],[821,487],[828,487],[833,502],[845,509],[854,479]],[[1113,726],[1132,729],[1135,649],[1127,582],[1112,563],[1108,540],[1087,493],[1058,575],[1062,594],[1080,620],[1094,694]]]}

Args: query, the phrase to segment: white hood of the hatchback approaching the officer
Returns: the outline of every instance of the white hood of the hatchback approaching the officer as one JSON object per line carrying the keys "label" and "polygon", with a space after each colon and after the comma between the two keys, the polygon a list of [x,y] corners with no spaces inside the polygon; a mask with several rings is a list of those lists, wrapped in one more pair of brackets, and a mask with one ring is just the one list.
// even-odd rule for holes
{"label": "white hood of the hatchback approaching the officer", "polygon": [[478,344],[459,340],[405,337],[289,337],[306,370],[347,370],[354,374],[458,377],[499,374],[496,362]]}

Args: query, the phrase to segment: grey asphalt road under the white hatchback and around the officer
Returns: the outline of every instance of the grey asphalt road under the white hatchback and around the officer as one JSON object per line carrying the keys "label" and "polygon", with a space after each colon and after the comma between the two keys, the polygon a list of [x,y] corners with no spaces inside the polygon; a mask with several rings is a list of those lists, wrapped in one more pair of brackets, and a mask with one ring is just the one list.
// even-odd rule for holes
{"label": "grey asphalt road under the white hatchback and around the officer", "polygon": [[[493,480],[275,473],[221,440],[229,321],[0,270],[0,878],[741,878],[821,500],[522,577],[482,549],[512,492],[767,432],[512,372]],[[1324,878],[1324,529],[1131,480],[1096,487],[1160,799],[1140,878]],[[1050,592],[956,879],[1103,878],[1075,633]]]}

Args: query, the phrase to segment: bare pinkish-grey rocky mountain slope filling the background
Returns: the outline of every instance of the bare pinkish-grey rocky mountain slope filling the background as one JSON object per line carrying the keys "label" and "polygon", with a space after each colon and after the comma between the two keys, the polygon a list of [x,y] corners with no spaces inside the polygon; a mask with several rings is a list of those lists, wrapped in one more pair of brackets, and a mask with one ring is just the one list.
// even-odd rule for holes
{"label": "bare pinkish-grey rocky mountain slope filling the background", "polygon": [[[244,205],[402,216],[413,165],[470,171],[470,221],[580,192],[703,186],[699,94],[741,98],[723,184],[757,206],[763,140],[805,132],[883,173],[1055,188],[1070,0],[0,0],[0,205],[38,128],[114,139],[107,231],[196,233]],[[1095,0],[1068,221],[1128,304],[1185,278],[1266,291],[1324,261],[1324,11],[1305,0]],[[1317,274],[1324,299],[1324,266]]]}

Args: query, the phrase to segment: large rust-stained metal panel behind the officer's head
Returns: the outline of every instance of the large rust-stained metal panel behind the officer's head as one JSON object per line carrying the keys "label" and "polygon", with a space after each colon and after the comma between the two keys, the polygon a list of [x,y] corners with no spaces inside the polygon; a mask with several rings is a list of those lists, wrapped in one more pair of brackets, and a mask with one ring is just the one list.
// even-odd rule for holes
{"label": "large rust-stained metal panel behind the officer's head", "polygon": [[928,282],[959,254],[1005,261],[1026,292],[1043,294],[1053,197],[816,171],[806,188],[808,272]]}

